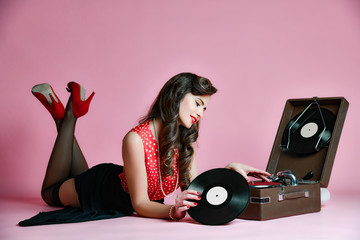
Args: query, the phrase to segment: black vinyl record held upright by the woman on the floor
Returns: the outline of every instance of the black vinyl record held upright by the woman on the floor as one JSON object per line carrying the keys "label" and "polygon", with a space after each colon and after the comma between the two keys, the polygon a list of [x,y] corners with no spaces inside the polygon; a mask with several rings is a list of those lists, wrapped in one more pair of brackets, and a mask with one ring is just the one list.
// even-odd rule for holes
{"label": "black vinyl record held upright by the woman on the floor", "polygon": [[226,168],[208,170],[197,176],[189,189],[200,192],[201,200],[188,210],[196,221],[220,225],[237,218],[249,202],[250,189],[245,178]]}

